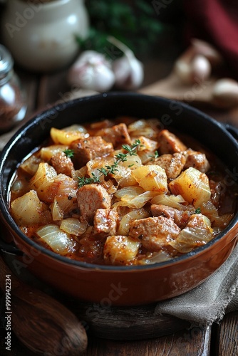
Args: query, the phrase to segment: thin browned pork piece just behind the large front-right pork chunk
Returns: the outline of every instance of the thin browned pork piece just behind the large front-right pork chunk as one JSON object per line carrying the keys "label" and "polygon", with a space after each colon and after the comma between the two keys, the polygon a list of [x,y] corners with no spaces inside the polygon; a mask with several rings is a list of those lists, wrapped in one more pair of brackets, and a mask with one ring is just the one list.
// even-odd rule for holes
{"label": "thin browned pork piece just behind the large front-right pork chunk", "polygon": [[164,204],[152,204],[150,206],[152,216],[165,216],[175,221],[175,224],[183,229],[192,215],[192,211],[180,211]]}

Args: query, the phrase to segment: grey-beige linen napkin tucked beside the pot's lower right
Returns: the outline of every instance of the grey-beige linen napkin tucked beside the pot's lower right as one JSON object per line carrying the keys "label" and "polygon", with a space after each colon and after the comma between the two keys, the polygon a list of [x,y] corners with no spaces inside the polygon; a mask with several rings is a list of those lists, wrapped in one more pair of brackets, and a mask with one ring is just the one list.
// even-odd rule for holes
{"label": "grey-beige linen napkin tucked beside the pot's lower right", "polygon": [[183,295],[158,303],[155,314],[169,314],[212,325],[234,310],[238,310],[238,245],[204,283]]}

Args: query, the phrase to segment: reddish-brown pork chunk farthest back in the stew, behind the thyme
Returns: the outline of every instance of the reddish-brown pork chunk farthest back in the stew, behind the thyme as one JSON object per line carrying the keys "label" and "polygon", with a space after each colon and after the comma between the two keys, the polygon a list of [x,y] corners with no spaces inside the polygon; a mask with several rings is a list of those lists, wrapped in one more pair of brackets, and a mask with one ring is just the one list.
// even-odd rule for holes
{"label": "reddish-brown pork chunk farthest back in the stew, behind the thyme", "polygon": [[114,125],[98,131],[97,135],[101,136],[106,142],[112,142],[113,147],[118,145],[130,145],[130,135],[125,124]]}

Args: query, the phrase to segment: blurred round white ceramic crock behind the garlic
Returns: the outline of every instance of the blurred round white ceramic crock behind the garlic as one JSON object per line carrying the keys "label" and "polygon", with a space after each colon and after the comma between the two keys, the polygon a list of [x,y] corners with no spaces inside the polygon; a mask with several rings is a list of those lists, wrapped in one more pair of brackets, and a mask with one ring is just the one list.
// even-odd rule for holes
{"label": "blurred round white ceramic crock behind the garlic", "polygon": [[48,72],[68,66],[85,38],[88,14],[83,0],[8,0],[1,19],[5,46],[27,70]]}

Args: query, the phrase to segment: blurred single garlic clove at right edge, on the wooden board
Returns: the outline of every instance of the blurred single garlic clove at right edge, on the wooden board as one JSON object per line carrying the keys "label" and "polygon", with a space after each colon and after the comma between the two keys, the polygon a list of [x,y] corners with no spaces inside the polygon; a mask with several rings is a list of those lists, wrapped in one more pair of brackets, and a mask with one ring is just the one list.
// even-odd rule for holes
{"label": "blurred single garlic clove at right edge, on the wooden board", "polygon": [[219,108],[238,106],[238,82],[230,78],[217,80],[212,90],[212,103]]}

